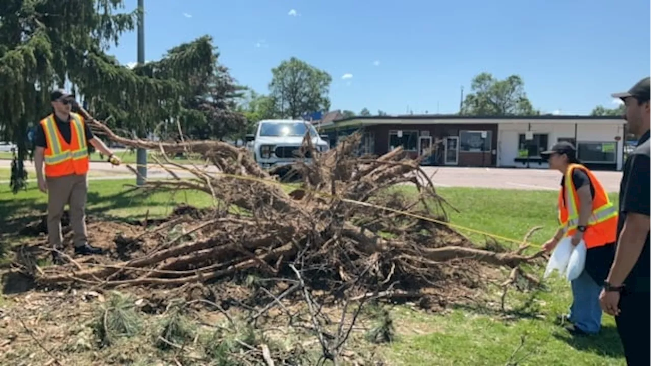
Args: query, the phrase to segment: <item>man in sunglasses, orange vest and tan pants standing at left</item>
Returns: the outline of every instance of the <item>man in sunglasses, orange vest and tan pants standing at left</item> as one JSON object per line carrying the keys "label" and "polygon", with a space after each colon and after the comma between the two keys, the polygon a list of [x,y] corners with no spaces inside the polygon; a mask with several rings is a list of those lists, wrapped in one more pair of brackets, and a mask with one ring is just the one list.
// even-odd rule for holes
{"label": "man in sunglasses, orange vest and tan pants standing at left", "polygon": [[[113,164],[119,164],[120,160],[113,156],[102,140],[94,137],[81,115],[72,113],[74,98],[74,95],[61,90],[50,94],[53,113],[36,125],[36,178],[38,188],[43,193],[48,193],[49,244],[57,250],[61,249],[61,217],[64,206],[69,204],[75,253],[99,254],[102,249],[90,246],[87,242],[85,206],[90,165],[88,144],[109,156],[109,161]],[[56,251],[53,251],[53,257],[59,259]]]}

